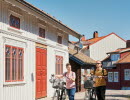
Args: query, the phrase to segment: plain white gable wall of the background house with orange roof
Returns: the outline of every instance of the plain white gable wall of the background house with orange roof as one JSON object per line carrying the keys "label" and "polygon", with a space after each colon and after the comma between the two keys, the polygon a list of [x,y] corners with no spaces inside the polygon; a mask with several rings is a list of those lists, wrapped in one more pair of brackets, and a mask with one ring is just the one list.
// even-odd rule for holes
{"label": "plain white gable wall of the background house with orange roof", "polygon": [[90,46],[90,57],[94,60],[103,60],[107,57],[107,52],[115,51],[118,48],[126,48],[126,42],[111,34]]}

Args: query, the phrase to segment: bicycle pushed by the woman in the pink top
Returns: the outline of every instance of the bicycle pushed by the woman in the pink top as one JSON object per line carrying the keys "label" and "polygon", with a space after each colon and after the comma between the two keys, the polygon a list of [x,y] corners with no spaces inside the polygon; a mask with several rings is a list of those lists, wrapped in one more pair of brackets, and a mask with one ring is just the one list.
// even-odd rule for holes
{"label": "bicycle pushed by the woman in the pink top", "polygon": [[66,82],[63,79],[56,79],[54,74],[51,75],[50,82],[55,89],[53,100],[65,100],[66,99]]}

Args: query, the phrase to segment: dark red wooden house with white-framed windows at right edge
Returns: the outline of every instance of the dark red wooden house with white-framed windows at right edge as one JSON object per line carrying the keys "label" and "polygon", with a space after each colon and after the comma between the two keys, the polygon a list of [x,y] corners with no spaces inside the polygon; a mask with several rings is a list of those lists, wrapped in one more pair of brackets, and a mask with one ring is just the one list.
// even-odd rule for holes
{"label": "dark red wooden house with white-framed windows at right edge", "polygon": [[108,71],[107,89],[130,90],[130,48],[109,52],[103,60]]}

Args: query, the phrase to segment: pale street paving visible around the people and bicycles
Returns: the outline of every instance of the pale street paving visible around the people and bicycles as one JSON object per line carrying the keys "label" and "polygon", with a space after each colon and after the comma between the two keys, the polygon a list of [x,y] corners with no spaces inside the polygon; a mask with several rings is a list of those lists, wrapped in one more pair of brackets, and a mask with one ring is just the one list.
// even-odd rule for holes
{"label": "pale street paving visible around the people and bicycles", "polygon": [[[75,100],[83,100],[84,94],[84,92],[76,93]],[[51,100],[51,98],[39,100]],[[107,90],[106,100],[130,100],[130,90]]]}

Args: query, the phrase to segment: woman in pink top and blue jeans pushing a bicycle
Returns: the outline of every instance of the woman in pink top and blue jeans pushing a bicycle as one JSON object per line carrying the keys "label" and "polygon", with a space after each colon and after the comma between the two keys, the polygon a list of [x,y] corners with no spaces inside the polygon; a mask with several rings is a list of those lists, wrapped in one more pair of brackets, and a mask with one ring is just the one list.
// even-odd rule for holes
{"label": "woman in pink top and blue jeans pushing a bicycle", "polygon": [[69,100],[74,100],[75,92],[76,92],[76,84],[75,84],[75,72],[72,72],[71,65],[69,63],[66,64],[67,72],[62,75],[55,75],[57,78],[66,78],[66,89]]}

